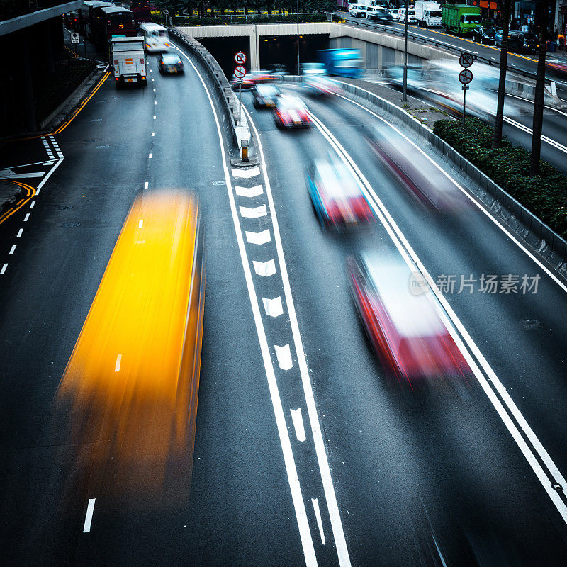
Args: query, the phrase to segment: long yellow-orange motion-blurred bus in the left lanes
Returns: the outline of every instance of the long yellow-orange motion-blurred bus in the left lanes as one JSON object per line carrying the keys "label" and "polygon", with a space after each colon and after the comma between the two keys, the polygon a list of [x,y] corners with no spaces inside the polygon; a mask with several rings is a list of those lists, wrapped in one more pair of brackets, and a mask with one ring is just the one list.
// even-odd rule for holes
{"label": "long yellow-orange motion-blurred bus in the left lanes", "polygon": [[59,391],[77,440],[92,443],[89,464],[115,488],[159,488],[172,467],[191,473],[204,283],[196,198],[137,198]]}

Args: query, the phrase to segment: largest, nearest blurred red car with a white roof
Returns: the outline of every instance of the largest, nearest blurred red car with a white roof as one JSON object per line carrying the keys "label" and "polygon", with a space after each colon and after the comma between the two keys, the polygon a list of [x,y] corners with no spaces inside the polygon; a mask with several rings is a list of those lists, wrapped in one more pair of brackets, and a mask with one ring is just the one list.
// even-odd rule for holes
{"label": "largest, nearest blurred red car with a white roof", "polygon": [[378,253],[349,257],[347,269],[354,303],[388,374],[411,385],[414,378],[468,372],[421,274]]}

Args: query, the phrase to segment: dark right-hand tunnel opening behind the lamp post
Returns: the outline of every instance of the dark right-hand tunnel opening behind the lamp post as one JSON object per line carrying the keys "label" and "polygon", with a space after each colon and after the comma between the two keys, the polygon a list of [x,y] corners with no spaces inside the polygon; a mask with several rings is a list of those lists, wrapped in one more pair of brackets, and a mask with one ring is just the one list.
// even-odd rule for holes
{"label": "dark right-hand tunnel opening behind the lamp post", "polygon": [[[285,65],[290,73],[296,72],[297,35],[261,35],[260,66],[269,69],[271,65]],[[301,63],[317,61],[317,51],[328,49],[329,36],[310,34],[299,36],[299,59]]]}

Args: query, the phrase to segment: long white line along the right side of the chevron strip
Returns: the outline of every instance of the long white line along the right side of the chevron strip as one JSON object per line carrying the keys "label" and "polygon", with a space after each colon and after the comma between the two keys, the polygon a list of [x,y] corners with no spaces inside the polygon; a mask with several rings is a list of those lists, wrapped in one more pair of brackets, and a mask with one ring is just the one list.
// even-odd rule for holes
{"label": "long white line along the right side of the chevron strip", "polygon": [[329,517],[331,520],[331,529],[333,537],[335,538],[335,547],[337,549],[337,557],[339,559],[340,567],[350,567],[350,557],[349,550],[347,548],[347,540],[344,538],[344,531],[342,529],[342,521],[339,512],[339,505],[337,503],[337,495],[335,495],[335,486],[332,482],[331,470],[329,466],[329,461],[327,461],[327,451],[325,449],[325,442],[323,441],[323,436],[321,432],[321,425],[319,422],[319,416],[317,413],[317,408],[315,406],[315,398],[313,396],[313,387],[311,386],[311,378],[309,376],[309,369],[307,366],[307,360],[305,359],[305,352],[303,350],[303,342],[301,341],[301,333],[299,332],[299,325],[297,321],[296,308],[293,305],[293,297],[291,296],[291,285],[289,283],[288,270],[286,266],[286,260],[283,256],[283,245],[281,244],[281,235],[279,232],[278,218],[276,217],[276,207],[274,206],[274,197],[271,194],[271,184],[268,177],[268,172],[266,168],[266,159],[264,157],[264,148],[262,147],[262,142],[252,116],[247,111],[246,107],[242,107],[248,118],[249,124],[252,124],[254,133],[256,134],[256,140],[258,143],[258,149],[260,152],[260,158],[262,159],[262,164],[264,164],[262,174],[264,176],[264,186],[266,187],[266,195],[268,197],[268,205],[270,209],[271,222],[274,230],[274,241],[276,242],[276,249],[278,251],[278,262],[279,269],[281,272],[281,279],[283,281],[283,291],[286,296],[286,305],[288,308],[289,322],[291,325],[291,331],[293,334],[293,344],[296,347],[296,354],[298,357],[299,369],[301,371],[301,382],[303,384],[303,393],[305,395],[305,403],[307,404],[310,429],[313,433],[313,442],[315,444],[315,453],[317,454],[317,461],[319,465],[319,471],[321,474],[321,481],[323,485],[323,490],[325,492],[325,500],[327,500],[327,510],[329,512]]}

